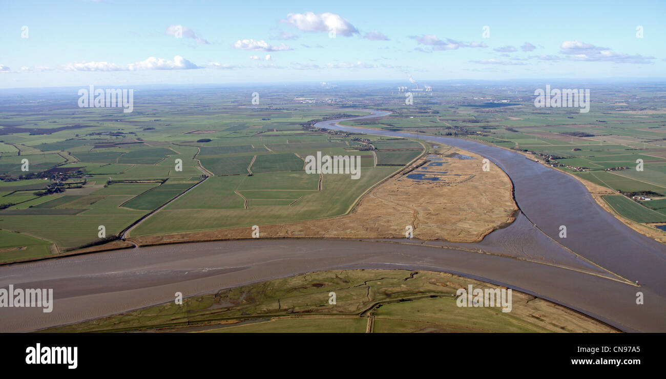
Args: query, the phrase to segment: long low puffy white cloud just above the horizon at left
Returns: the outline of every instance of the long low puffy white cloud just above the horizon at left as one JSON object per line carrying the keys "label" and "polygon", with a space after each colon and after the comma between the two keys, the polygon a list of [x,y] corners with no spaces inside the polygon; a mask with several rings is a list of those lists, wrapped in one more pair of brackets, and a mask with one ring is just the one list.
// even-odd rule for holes
{"label": "long low puffy white cloud just above the horizon at left", "polygon": [[173,61],[164,58],[149,57],[145,61],[130,63],[129,65],[117,65],[109,62],[81,62],[68,63],[61,67],[65,71],[139,71],[139,70],[188,70],[200,69],[194,63],[184,59],[180,55],[173,57]]}

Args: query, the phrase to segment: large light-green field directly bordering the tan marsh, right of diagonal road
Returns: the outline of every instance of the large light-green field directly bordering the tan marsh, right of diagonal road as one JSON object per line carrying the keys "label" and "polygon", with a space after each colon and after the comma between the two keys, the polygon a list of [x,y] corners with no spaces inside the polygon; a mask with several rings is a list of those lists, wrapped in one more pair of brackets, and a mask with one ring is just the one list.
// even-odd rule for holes
{"label": "large light-green field directly bordering the tan marsh, right of diagonal road", "polygon": [[[131,232],[131,236],[153,235],[161,232],[175,233],[232,228],[255,224],[277,224],[281,222],[339,216],[349,212],[362,193],[394,173],[397,169],[392,167],[362,169],[360,179],[358,180],[353,180],[350,178],[350,175],[346,174],[323,175],[321,191],[317,190],[319,175],[316,174],[305,174],[303,172],[266,173],[256,174],[252,177],[238,177],[239,182],[236,188],[240,193],[244,193],[242,190],[253,190],[252,194],[254,196],[261,196],[258,194],[260,191],[256,187],[264,187],[266,192],[280,192],[279,196],[290,196],[294,199],[302,196],[302,198],[292,205],[288,205],[289,202],[286,200],[269,200],[276,202],[275,205],[270,205],[267,201],[256,202],[250,200],[248,201],[248,208],[244,208],[242,206],[244,200],[236,195],[238,200],[240,200],[236,200],[238,202],[234,203],[236,204],[236,208],[228,208],[224,212],[220,212],[214,204],[219,202],[224,204],[226,201],[234,199],[232,197],[233,191],[229,188],[233,187],[234,184],[228,184],[228,192],[226,192],[225,196],[206,196],[205,193],[211,190],[210,185],[204,187],[204,185],[211,181],[209,179],[188,192],[185,196],[182,196],[182,198],[176,200],[173,204],[163,208],[139,224]],[[285,175],[286,177],[284,177]],[[263,176],[266,176],[266,178]],[[280,185],[277,186],[277,177],[280,176],[282,176],[279,182]],[[307,192],[302,191],[302,187],[298,185],[298,182],[289,178],[291,176],[308,180],[312,183],[311,187],[308,186],[311,190]],[[227,178],[223,177],[221,179]],[[276,179],[271,180],[270,178]],[[289,185],[292,187],[288,188]],[[274,187],[281,187],[280,189],[282,190],[276,191]],[[294,194],[289,193],[290,189],[294,190]],[[202,208],[196,208],[194,212],[192,211],[193,209],[180,208],[182,206],[181,202],[198,202]],[[206,203],[210,205],[206,205]]]}

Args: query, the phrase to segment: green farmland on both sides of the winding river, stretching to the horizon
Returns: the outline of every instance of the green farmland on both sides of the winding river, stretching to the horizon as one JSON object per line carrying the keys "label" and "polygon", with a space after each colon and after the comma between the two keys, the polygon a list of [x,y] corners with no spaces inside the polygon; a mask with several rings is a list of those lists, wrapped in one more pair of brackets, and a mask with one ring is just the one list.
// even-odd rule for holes
{"label": "green farmland on both sides of the winding river, stretching to the horizon", "polygon": [[[334,97],[341,102],[335,105],[326,100],[332,97],[330,89],[318,85],[268,86],[262,89],[261,107],[244,107],[248,91],[240,87],[151,89],[142,91],[143,109],[133,113],[73,110],[69,99],[39,91],[25,97],[0,95],[6,104],[0,120],[0,204],[15,204],[0,210],[0,228],[50,240],[59,250],[74,248],[98,240],[97,226],[108,223],[107,235],[120,232],[202,179],[202,185],[132,234],[345,214],[366,190],[422,154],[418,140],[313,127],[317,120],[366,115],[356,109],[358,104],[392,113],[344,124],[529,151],[555,169],[615,191],[666,195],[661,85],[627,84],[621,93],[613,86],[593,85],[595,106],[589,113],[536,109],[533,89],[523,85],[436,87],[436,94],[415,93],[413,106],[405,105],[403,94],[386,83],[339,87]],[[304,96],[314,103],[295,100]],[[317,153],[361,156],[361,179],[325,175],[320,190],[319,175],[303,171],[304,157]],[[29,161],[29,171],[21,171],[23,159]],[[644,161],[643,171],[635,169],[637,159]],[[176,170],[176,160],[182,161],[182,171]],[[604,171],[616,167],[626,168]],[[214,176],[206,178],[204,172]],[[73,181],[86,183],[64,192],[55,188]],[[128,183],[132,181],[157,183]],[[165,184],[157,187],[159,183]],[[37,191],[50,192],[38,197]],[[644,206],[610,201],[618,212],[642,222],[660,219],[666,208],[659,200]]]}

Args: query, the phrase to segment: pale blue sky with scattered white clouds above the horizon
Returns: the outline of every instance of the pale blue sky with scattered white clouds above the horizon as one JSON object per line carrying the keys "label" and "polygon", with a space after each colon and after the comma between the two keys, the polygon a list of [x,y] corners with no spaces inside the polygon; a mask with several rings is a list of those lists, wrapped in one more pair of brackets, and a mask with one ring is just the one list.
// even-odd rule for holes
{"label": "pale blue sky with scattered white clouds above the horizon", "polygon": [[666,1],[0,4],[0,88],[666,77]]}

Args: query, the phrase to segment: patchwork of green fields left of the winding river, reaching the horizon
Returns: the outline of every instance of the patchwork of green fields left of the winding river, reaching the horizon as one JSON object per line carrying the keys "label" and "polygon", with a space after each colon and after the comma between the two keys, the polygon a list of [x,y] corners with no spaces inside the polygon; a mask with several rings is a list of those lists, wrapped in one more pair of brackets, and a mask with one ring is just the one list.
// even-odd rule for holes
{"label": "patchwork of green fields left of the winding river, reaching the horizon", "polygon": [[[0,262],[103,243],[144,216],[132,236],[338,216],[422,153],[391,141],[378,161],[356,136],[304,128],[342,115],[335,109],[254,109],[213,93],[206,109],[173,109],[164,96],[151,93],[128,114],[73,111],[66,99],[52,99],[47,117],[5,109],[0,126],[29,132],[0,135],[0,232],[13,237],[3,238]],[[304,159],[317,152],[360,155],[360,179],[306,174]]]}

